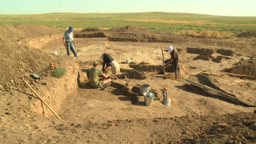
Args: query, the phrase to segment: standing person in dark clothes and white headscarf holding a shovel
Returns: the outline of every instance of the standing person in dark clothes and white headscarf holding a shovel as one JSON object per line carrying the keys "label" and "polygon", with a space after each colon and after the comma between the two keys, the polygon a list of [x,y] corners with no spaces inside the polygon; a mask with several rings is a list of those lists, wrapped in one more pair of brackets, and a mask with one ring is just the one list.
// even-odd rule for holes
{"label": "standing person in dark clothes and white headscarf holding a shovel", "polygon": [[178,77],[178,69],[179,69],[179,54],[177,50],[173,46],[168,46],[168,49],[164,49],[165,52],[171,54],[171,58],[165,60],[163,63],[163,69],[158,74],[165,74],[165,66],[172,64],[172,72],[175,72],[175,79]]}

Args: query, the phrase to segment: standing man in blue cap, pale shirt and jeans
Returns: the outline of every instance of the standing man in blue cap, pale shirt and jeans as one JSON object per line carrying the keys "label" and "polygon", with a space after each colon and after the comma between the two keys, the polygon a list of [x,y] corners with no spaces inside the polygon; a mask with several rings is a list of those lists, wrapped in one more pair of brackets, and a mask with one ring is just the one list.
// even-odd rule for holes
{"label": "standing man in blue cap, pale shirt and jeans", "polygon": [[72,53],[74,54],[74,56],[77,57],[76,49],[74,47],[74,46],[76,46],[76,43],[74,41],[73,31],[74,31],[74,28],[72,26],[70,26],[69,29],[64,32],[63,43],[67,50],[67,55],[68,56],[70,55],[69,50],[71,50]]}

